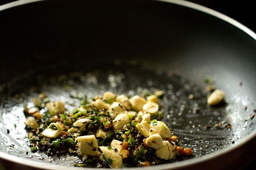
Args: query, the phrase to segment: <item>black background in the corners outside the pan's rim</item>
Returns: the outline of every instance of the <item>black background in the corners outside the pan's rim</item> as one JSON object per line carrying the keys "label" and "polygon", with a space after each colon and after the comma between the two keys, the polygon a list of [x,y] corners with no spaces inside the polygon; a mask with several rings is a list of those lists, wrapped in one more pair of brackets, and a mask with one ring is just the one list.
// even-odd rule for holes
{"label": "black background in the corners outside the pan's rim", "polygon": [[[14,0],[0,0],[0,5],[12,2]],[[198,3],[202,6],[212,8],[215,11],[225,14],[244,26],[247,26],[252,31],[256,32],[255,22],[255,6],[253,0],[188,0],[193,3]],[[256,161],[246,166],[244,170],[254,170]]]}

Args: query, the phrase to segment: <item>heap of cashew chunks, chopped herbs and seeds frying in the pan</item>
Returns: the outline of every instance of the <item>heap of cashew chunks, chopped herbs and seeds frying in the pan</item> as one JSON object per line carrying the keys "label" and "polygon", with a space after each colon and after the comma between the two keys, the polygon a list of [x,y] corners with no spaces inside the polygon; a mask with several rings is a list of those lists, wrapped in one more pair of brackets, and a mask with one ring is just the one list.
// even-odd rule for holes
{"label": "heap of cashew chunks, chopped herbs and seeds frying in the pan", "polygon": [[111,168],[150,166],[177,155],[190,156],[192,150],[183,149],[160,121],[162,95],[163,91],[155,91],[146,97],[128,97],[107,91],[82,100],[69,112],[60,100],[51,102],[40,94],[34,107],[24,108],[31,151],[45,151],[48,156],[70,153],[86,164],[102,161]]}

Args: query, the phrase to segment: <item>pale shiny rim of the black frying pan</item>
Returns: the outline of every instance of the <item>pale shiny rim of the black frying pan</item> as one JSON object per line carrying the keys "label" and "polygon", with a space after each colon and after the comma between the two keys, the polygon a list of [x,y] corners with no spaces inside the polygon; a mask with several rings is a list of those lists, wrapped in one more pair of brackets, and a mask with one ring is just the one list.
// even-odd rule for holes
{"label": "pale shiny rim of the black frying pan", "polygon": [[[28,4],[28,3],[35,3],[38,1],[45,1],[45,0],[17,0],[11,3],[7,3],[4,4],[2,6],[0,6],[0,11],[9,9],[9,8],[13,8],[16,6],[20,6],[20,5],[24,5],[24,4]],[[241,31],[244,31],[246,34],[248,34],[250,37],[252,37],[254,40],[256,40],[256,33],[254,33],[252,30],[250,30],[250,28],[247,28],[246,26],[244,26],[243,24],[239,23],[238,21],[232,19],[231,17],[228,17],[225,14],[222,14],[218,11],[215,11],[211,8],[205,7],[205,6],[201,6],[199,4],[196,3],[192,3],[186,0],[154,0],[154,1],[162,1],[162,2],[166,2],[166,3],[172,3],[172,4],[176,4],[176,5],[180,5],[180,6],[184,6],[187,8],[192,8],[195,9],[197,11],[201,11],[203,13],[212,15],[213,17],[217,17],[221,20],[224,20],[227,23],[230,23],[231,25],[239,28]],[[204,155],[202,157],[199,158],[193,158],[193,159],[189,159],[186,161],[180,161],[180,162],[175,162],[175,163],[170,163],[170,164],[160,164],[160,165],[156,165],[153,167],[146,167],[148,170],[153,170],[157,167],[157,169],[162,169],[162,170],[166,170],[166,169],[180,169],[180,168],[185,168],[185,167],[189,167],[191,165],[195,165],[195,164],[201,164],[204,161],[207,160],[212,160],[215,159],[221,155],[227,154],[233,150],[236,150],[239,147],[242,147],[244,144],[246,144],[247,142],[253,140],[256,138],[256,130],[253,130],[253,133],[251,133],[250,135],[248,135],[247,137],[245,137],[244,140],[237,142],[236,144],[234,144],[233,146],[224,148],[223,150],[214,152],[214,153],[209,153],[207,155]],[[18,164],[22,164],[22,165],[26,165],[28,167],[35,167],[35,168],[45,168],[45,169],[52,169],[52,170],[57,170],[63,168],[64,170],[68,169],[68,170],[72,170],[72,169],[77,169],[76,167],[65,167],[65,166],[60,166],[60,165],[55,165],[55,164],[48,164],[48,163],[44,163],[44,162],[39,162],[39,161],[32,161],[30,159],[25,159],[25,158],[20,158],[17,156],[13,156],[13,155],[9,155],[7,153],[3,153],[2,151],[0,151],[0,159],[4,159],[4,160],[8,160],[8,161],[12,161],[13,163],[18,163]],[[195,161],[196,160],[196,161]],[[31,164],[31,162],[33,162],[33,164]],[[142,168],[142,167],[132,167],[132,168],[127,168],[127,169],[134,169],[134,168]],[[93,170],[95,168],[86,168],[87,170]]]}

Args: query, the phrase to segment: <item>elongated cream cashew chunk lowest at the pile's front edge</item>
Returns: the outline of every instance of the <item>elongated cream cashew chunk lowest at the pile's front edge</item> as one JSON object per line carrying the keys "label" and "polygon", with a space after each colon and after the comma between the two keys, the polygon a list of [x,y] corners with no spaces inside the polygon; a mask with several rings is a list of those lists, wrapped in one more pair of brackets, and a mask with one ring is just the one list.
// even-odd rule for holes
{"label": "elongated cream cashew chunk lowest at the pile's front edge", "polygon": [[100,146],[102,150],[102,156],[111,168],[121,168],[122,167],[122,156],[116,153],[113,149],[108,149],[108,147]]}

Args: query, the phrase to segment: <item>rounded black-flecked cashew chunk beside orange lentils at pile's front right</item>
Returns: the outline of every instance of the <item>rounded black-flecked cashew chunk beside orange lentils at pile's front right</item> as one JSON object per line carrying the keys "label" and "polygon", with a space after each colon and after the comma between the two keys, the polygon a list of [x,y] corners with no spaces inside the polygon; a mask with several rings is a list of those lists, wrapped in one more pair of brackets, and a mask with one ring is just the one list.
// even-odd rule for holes
{"label": "rounded black-flecked cashew chunk beside orange lentils at pile's front right", "polygon": [[173,159],[176,155],[174,146],[169,141],[163,141],[162,147],[156,150],[156,156],[161,159]]}

